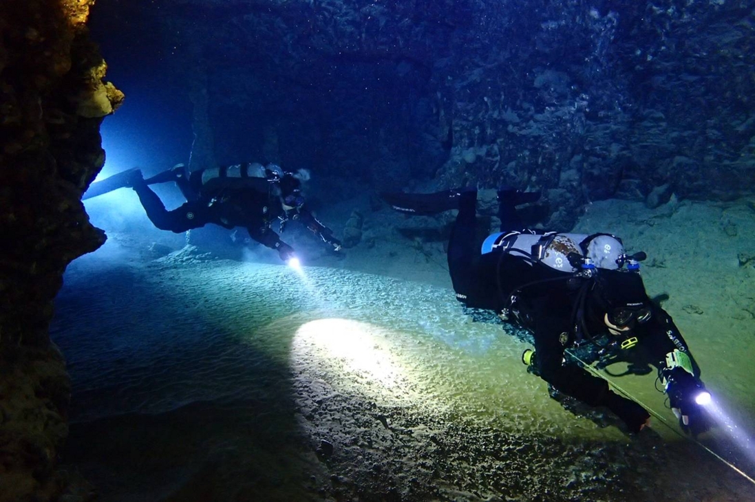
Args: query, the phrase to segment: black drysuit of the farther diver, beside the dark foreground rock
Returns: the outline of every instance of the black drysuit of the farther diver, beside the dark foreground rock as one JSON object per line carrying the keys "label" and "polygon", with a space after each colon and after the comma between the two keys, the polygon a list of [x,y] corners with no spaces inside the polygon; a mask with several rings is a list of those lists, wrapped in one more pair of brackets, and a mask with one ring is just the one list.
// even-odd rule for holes
{"label": "black drysuit of the farther diver, beside the dark foreground rock", "polygon": [[[276,184],[279,183],[277,176],[271,176],[270,179],[223,180],[224,183],[216,183],[211,189],[202,187],[199,181],[202,171],[193,171],[190,183],[185,177],[175,177],[170,171],[155,178],[158,177],[162,177],[158,183],[162,180],[176,181],[188,201],[179,208],[167,211],[160,198],[145,181],[132,184],[147,217],[161,230],[182,233],[208,223],[227,229],[243,226],[252,239],[268,248],[279,250],[285,259],[293,250],[282,242],[271,226],[275,220],[282,224],[288,220],[298,220],[323,242],[340,248],[341,242],[333,237],[331,229],[320,223],[303,207],[304,202],[300,197],[297,197],[297,201],[291,202],[288,210],[283,207],[280,190],[276,189]],[[154,178],[150,179],[150,183],[155,183],[153,180]]]}

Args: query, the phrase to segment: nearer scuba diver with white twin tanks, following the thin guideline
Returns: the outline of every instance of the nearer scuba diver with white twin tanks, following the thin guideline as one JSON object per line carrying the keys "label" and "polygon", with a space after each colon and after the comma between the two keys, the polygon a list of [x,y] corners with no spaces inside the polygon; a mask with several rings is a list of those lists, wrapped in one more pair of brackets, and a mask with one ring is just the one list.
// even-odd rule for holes
{"label": "nearer scuba diver with white twin tanks, following the thin guideline", "polygon": [[639,276],[644,253],[627,255],[621,240],[608,234],[535,233],[523,229],[516,206],[539,193],[498,192],[501,233],[482,243],[476,236],[476,190],[433,194],[386,193],[384,199],[405,214],[458,209],[448,243],[448,270],[464,305],[492,310],[532,331],[535,352],[522,356],[551,387],[591,406],[606,406],[639,432],[649,413],[609,389],[608,383],[574,362],[565,350],[599,343],[602,352],[643,350],[658,368],[670,406],[686,430],[704,430],[700,369],[671,317],[646,294]]}

